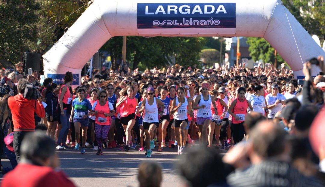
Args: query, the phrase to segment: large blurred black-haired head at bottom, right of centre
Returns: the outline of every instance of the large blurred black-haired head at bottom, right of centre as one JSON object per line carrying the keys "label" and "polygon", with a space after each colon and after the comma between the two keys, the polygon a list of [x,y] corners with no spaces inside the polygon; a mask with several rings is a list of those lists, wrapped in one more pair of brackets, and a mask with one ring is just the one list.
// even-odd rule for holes
{"label": "large blurred black-haired head at bottom, right of centre", "polygon": [[177,167],[180,175],[188,182],[188,186],[226,184],[225,166],[216,149],[191,149],[182,155]]}

